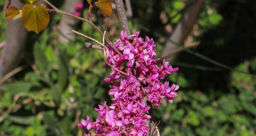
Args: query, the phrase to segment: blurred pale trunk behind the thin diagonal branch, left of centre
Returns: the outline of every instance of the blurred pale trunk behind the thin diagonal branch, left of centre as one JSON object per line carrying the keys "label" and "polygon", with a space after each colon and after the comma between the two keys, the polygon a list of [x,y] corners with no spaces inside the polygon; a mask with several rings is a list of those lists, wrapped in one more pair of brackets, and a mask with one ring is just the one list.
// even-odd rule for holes
{"label": "blurred pale trunk behind the thin diagonal branch, left of centre", "polygon": [[[64,12],[67,13],[74,13],[75,12],[75,5],[77,3],[83,3],[82,0],[65,0],[65,7]],[[58,27],[59,35],[58,40],[60,43],[68,43],[70,40],[75,40],[75,33],[70,32],[69,30],[73,30],[74,25],[77,23],[77,19],[62,15],[60,20],[60,24]]]}

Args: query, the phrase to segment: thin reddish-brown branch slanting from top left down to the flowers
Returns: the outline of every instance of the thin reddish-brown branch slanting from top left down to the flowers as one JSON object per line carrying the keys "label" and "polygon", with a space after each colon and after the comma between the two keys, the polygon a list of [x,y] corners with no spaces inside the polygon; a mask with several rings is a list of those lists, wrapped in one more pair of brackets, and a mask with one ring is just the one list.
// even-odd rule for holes
{"label": "thin reddish-brown branch slanting from top left down to the flowers", "polygon": [[[72,15],[72,14],[69,14],[69,13],[66,13],[66,12],[63,12],[61,10],[59,10],[57,7],[55,7],[52,3],[48,2],[47,0],[43,0],[45,3],[47,3],[49,6],[51,6],[54,11],[53,12],[56,12],[56,13],[60,13],[60,14],[63,14],[63,15],[66,15],[66,16],[70,16],[70,17],[73,17],[73,18],[76,18],[76,19],[79,19],[81,21],[84,21],[84,22],[87,22],[89,23],[97,32],[99,32],[102,36],[103,36],[103,33],[100,31],[100,29],[95,26],[95,24],[93,22],[91,22],[91,20],[88,20],[88,19],[85,19],[85,18],[82,18],[82,17],[78,17],[78,16],[75,16],[75,15]],[[108,37],[105,36],[105,40],[106,42],[120,55],[120,56],[123,56],[123,54],[112,44],[112,42],[109,40]]]}

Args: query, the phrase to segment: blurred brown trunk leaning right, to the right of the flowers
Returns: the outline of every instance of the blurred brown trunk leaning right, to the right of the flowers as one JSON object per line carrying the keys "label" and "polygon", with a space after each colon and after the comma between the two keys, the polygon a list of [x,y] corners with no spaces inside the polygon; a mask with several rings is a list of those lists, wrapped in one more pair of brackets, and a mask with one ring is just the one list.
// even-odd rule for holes
{"label": "blurred brown trunk leaning right, to the right of the flowers", "polygon": [[[184,13],[175,27],[172,35],[170,36],[170,40],[174,41],[177,44],[183,44],[185,38],[191,33],[191,30],[193,28],[193,25],[195,21],[198,18],[200,9],[203,5],[204,0],[198,0],[194,4],[190,5],[191,2],[194,2],[195,0],[188,0],[187,5],[189,5],[185,10]],[[170,57],[168,57],[170,54],[172,54],[172,51],[177,50],[179,47],[176,45],[167,42],[165,47],[163,48],[163,52],[161,54],[161,58],[166,58],[170,63],[173,62],[176,55],[173,54]]]}

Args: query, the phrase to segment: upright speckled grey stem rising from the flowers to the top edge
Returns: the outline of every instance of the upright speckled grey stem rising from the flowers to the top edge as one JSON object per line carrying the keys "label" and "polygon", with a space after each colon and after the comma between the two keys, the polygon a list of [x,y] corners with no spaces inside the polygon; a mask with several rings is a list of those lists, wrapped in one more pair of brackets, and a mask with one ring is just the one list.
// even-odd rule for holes
{"label": "upright speckled grey stem rising from the flowers to the top edge", "polygon": [[119,17],[119,20],[121,23],[122,30],[125,31],[127,35],[131,35],[127,17],[125,14],[125,7],[124,7],[123,0],[115,0],[115,4],[116,4],[116,10],[118,13],[118,17]]}

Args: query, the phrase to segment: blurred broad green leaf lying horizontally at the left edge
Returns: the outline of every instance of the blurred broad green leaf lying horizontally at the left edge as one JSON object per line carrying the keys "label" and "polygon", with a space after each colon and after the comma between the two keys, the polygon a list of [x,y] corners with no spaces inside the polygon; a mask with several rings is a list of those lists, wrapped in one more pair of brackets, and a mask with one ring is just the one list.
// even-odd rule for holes
{"label": "blurred broad green leaf lying horizontally at the left edge", "polygon": [[9,92],[12,95],[18,94],[19,92],[27,92],[33,86],[30,82],[16,81],[10,84],[1,85],[0,89],[5,92]]}

